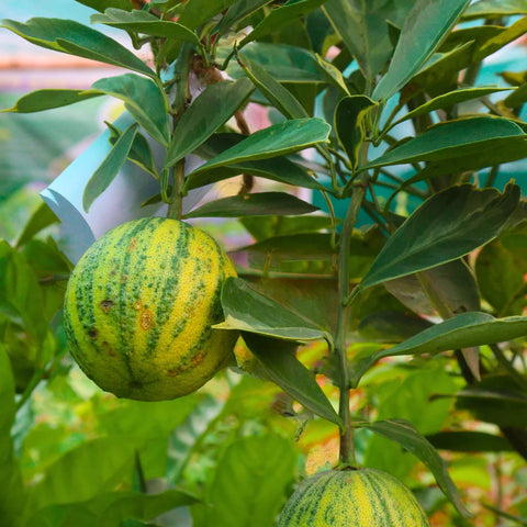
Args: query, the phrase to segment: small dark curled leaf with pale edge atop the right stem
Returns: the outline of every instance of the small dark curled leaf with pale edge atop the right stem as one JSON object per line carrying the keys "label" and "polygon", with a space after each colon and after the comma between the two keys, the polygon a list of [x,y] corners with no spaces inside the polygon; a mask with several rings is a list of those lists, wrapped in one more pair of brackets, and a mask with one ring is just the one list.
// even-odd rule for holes
{"label": "small dark curled leaf with pale edge atop the right stem", "polygon": [[366,137],[365,117],[377,106],[366,96],[345,97],[335,111],[335,131],[354,168],[359,164],[359,149]]}

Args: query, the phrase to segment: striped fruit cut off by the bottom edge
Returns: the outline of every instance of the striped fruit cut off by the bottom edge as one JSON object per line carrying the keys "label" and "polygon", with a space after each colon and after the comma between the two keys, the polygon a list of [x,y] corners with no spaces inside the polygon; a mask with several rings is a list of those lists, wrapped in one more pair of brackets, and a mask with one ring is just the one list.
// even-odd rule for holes
{"label": "striped fruit cut off by the bottom edge", "polygon": [[279,527],[429,527],[399,480],[375,469],[327,470],[305,480],[285,504]]}

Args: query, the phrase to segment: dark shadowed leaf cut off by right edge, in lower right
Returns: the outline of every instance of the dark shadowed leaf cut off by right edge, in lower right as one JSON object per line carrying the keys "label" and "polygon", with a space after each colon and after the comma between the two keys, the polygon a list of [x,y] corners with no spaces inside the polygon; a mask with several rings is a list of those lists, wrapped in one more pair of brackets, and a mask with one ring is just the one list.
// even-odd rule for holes
{"label": "dark shadowed leaf cut off by right edge, in lower right", "polygon": [[457,393],[456,407],[501,427],[527,427],[527,386],[507,374],[487,375]]}

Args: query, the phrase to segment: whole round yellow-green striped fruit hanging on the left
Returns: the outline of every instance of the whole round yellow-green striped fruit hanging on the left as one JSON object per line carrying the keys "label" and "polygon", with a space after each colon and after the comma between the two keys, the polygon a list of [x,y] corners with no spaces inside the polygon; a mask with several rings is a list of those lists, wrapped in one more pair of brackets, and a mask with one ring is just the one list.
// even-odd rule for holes
{"label": "whole round yellow-green striped fruit hanging on the left", "polygon": [[120,397],[169,400],[209,381],[232,356],[220,291],[234,276],[216,242],[183,222],[149,217],[99,238],[68,281],[64,326],[71,354]]}

